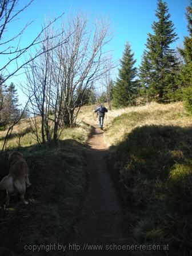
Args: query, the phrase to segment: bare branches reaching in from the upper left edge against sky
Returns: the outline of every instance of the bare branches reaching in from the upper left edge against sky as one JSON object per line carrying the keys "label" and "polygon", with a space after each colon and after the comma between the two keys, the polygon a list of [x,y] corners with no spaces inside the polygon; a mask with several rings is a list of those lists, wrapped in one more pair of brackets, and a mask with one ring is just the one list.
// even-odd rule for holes
{"label": "bare branches reaching in from the upper left edge against sky", "polygon": [[[62,15],[55,18],[53,21],[50,21],[46,26],[44,26],[37,36],[31,40],[26,46],[21,47],[21,38],[25,36],[25,31],[27,27],[30,26],[32,22],[28,22],[23,25],[23,28],[20,31],[13,31],[10,37],[6,36],[6,32],[9,31],[9,26],[11,23],[17,21],[19,15],[23,13],[34,0],[30,0],[25,6],[17,10],[19,0],[1,0],[0,1],[0,57],[4,59],[4,62],[0,66],[0,74],[2,75],[3,81],[6,82],[7,79],[13,77],[21,70],[26,63],[29,63],[33,59],[37,58],[39,55],[43,54],[44,49],[39,49],[35,55],[31,56],[29,59],[23,58],[26,53],[29,53],[29,50],[37,47],[41,42],[42,33],[51,26],[57,19],[61,18]],[[10,34],[10,33],[9,33]],[[58,35],[51,35],[50,37],[57,37]],[[14,66],[14,67],[13,67]]]}

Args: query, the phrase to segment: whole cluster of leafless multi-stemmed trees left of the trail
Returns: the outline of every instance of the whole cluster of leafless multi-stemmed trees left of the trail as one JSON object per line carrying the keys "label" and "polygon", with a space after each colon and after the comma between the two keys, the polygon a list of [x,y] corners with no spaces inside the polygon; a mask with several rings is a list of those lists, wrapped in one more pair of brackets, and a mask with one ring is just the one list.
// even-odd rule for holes
{"label": "whole cluster of leafless multi-stemmed trees left of the trail", "polygon": [[31,62],[27,70],[27,91],[34,95],[31,108],[41,116],[42,142],[52,134],[56,141],[63,127],[75,125],[83,93],[111,68],[105,65],[110,58],[108,21],[100,18],[92,24],[81,13],[67,18],[61,28],[60,37],[51,41],[53,50]]}

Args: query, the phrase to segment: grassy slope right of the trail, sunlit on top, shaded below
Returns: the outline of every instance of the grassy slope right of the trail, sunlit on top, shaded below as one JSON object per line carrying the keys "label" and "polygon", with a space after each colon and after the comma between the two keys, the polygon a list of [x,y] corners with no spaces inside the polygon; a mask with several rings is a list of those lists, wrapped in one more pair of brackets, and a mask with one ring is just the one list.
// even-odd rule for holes
{"label": "grassy slope right of the trail, sunlit on top, shaded below", "polygon": [[190,255],[192,118],[182,103],[138,107],[110,123],[109,170],[125,207],[129,243],[167,245],[136,255]]}

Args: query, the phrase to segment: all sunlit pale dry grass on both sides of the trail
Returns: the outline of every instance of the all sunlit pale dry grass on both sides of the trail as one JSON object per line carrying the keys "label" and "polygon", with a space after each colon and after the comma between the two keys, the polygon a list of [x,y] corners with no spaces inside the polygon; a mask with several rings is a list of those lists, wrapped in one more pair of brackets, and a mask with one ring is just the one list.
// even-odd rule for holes
{"label": "all sunlit pale dry grass on both sides of the trail", "polygon": [[[86,142],[89,137],[90,129],[85,123],[89,125],[98,124],[96,113],[93,113],[93,110],[96,108],[97,105],[83,106],[78,115],[78,127],[63,130],[61,139],[77,138],[77,141]],[[115,127],[113,127],[114,118],[128,113],[133,113],[133,121],[134,113],[141,114],[142,118],[137,120],[137,123],[134,123],[134,125],[133,123],[129,125],[129,123],[120,122],[118,124],[118,130],[116,131]],[[109,110],[105,117],[105,142],[108,146],[113,145],[123,139],[123,134],[130,133],[130,131],[137,126],[173,125],[187,127],[191,125],[191,120],[192,118],[186,116],[182,102],[171,103],[169,105],[160,105],[152,102],[146,106]],[[112,136],[109,131],[111,127],[114,128]],[[38,129],[41,129],[40,122],[38,122]],[[0,131],[0,149],[3,143],[1,138],[5,137],[5,135],[6,130]],[[23,119],[14,126],[13,135],[9,139],[7,147],[11,149],[15,146],[17,147],[19,143],[21,146],[31,146],[37,143],[35,135],[31,133],[30,121],[28,119]]]}

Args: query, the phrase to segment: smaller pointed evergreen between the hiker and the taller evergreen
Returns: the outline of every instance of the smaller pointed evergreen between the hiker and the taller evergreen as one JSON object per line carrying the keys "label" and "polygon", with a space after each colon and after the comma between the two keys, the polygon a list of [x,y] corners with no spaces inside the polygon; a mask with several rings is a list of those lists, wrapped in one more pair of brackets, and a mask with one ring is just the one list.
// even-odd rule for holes
{"label": "smaller pointed evergreen between the hiker and the taller evergreen", "polygon": [[125,107],[133,104],[138,85],[135,81],[137,75],[137,68],[134,67],[135,62],[134,53],[131,53],[131,46],[127,42],[120,61],[119,77],[113,87],[112,105],[114,107]]}

